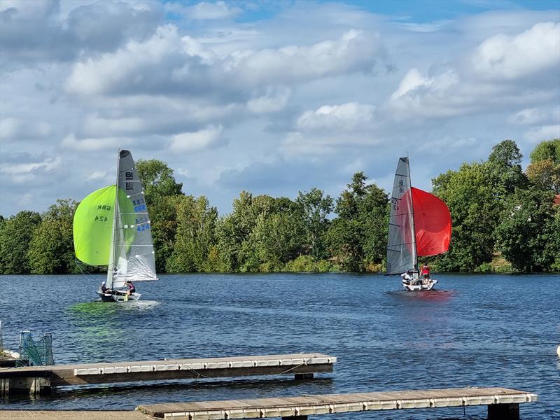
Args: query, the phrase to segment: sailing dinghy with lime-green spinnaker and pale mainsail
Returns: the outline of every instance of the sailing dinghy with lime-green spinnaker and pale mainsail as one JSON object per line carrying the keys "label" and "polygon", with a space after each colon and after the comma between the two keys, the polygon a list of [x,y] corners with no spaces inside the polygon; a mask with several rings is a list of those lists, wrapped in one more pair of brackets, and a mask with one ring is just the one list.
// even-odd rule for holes
{"label": "sailing dinghy with lime-green spinnaker and pale mainsail", "polygon": [[157,280],[150,216],[144,188],[130,151],[118,152],[116,185],[94,191],[80,202],[73,220],[76,258],[107,266],[104,302],[138,300],[127,281]]}

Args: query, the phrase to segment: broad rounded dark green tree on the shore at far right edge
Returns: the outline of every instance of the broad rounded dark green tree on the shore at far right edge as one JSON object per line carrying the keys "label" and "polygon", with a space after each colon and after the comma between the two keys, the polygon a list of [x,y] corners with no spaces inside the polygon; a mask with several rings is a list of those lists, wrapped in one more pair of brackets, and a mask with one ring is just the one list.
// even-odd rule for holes
{"label": "broad rounded dark green tree on the shore at far right edge", "polygon": [[[496,229],[497,248],[514,269],[526,272],[549,269],[555,257],[550,246],[547,247],[553,240],[550,236],[553,225],[552,194],[534,188],[518,189],[508,197]],[[558,232],[554,235],[558,236]]]}

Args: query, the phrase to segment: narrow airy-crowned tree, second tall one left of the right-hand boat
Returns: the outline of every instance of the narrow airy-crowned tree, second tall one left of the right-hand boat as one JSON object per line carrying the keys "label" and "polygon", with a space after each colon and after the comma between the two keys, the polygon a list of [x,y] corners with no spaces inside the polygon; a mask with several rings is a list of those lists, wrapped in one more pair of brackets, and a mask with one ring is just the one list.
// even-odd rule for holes
{"label": "narrow airy-crowned tree, second tall one left of the right-hand boat", "polygon": [[309,193],[297,194],[295,203],[302,214],[302,229],[305,243],[314,260],[325,258],[325,234],[330,223],[328,216],[334,208],[330,195],[323,196],[323,191],[311,188]]}

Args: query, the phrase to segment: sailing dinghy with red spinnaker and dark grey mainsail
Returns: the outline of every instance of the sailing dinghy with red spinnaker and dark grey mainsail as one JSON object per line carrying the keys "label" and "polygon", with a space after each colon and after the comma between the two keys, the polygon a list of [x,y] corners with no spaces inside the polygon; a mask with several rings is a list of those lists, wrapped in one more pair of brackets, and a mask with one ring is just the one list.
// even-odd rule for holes
{"label": "sailing dinghy with red spinnaker and dark grey mainsail", "polygon": [[431,290],[436,279],[420,279],[418,257],[444,253],[451,240],[447,205],[411,186],[408,158],[398,160],[391,195],[387,274],[400,274],[406,290]]}

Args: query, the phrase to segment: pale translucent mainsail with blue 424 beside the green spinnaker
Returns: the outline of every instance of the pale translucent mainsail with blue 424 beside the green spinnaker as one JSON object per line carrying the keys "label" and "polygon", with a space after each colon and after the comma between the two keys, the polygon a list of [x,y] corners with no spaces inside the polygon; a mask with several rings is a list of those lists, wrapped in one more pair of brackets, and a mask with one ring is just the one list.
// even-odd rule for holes
{"label": "pale translucent mainsail with blue 424 beside the green spinnaker", "polygon": [[130,151],[119,152],[117,185],[119,194],[107,269],[107,285],[111,288],[121,288],[127,280],[157,280],[150,216]]}

